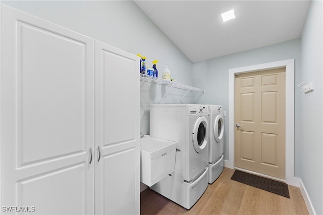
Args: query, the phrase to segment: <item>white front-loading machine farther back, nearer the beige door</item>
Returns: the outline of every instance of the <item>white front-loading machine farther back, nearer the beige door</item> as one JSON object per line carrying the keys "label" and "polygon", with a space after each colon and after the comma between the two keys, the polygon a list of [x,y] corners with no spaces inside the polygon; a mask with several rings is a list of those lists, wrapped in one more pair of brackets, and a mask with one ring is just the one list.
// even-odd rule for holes
{"label": "white front-loading machine farther back, nearer the beige door", "polygon": [[209,112],[208,183],[212,184],[223,172],[224,120],[221,105],[207,105]]}

